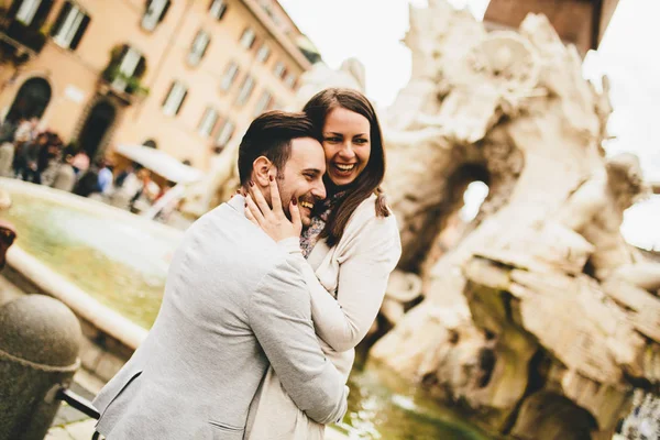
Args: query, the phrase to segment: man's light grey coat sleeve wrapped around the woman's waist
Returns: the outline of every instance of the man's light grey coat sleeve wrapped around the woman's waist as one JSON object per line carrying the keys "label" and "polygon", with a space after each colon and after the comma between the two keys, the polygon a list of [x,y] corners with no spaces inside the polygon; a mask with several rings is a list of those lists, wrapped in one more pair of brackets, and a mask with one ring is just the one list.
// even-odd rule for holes
{"label": "man's light grey coat sleeve wrapped around the woman's waist", "polygon": [[323,355],[300,272],[284,261],[260,282],[246,310],[250,326],[296,406],[319,424],[346,411],[341,374]]}

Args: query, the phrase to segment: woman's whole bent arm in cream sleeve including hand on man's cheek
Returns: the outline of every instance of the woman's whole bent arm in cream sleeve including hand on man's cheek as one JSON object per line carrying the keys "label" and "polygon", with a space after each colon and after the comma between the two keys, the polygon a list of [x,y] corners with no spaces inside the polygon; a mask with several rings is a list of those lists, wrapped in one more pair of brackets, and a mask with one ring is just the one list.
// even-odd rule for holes
{"label": "woman's whole bent arm in cream sleeve including hand on man's cheek", "polygon": [[300,252],[298,240],[301,219],[296,199],[288,201],[289,220],[282,208],[277,184],[272,178],[272,208],[261,190],[255,190],[252,185],[245,201],[248,219],[289,253],[298,254],[294,255],[296,257],[292,258],[292,263],[299,267],[308,284],[317,334],[338,352],[358,345],[381,309],[387,279],[402,254],[394,216],[377,218],[373,202],[366,200],[358,207],[338,244],[343,249],[339,261],[338,295],[334,299],[317,279]]}

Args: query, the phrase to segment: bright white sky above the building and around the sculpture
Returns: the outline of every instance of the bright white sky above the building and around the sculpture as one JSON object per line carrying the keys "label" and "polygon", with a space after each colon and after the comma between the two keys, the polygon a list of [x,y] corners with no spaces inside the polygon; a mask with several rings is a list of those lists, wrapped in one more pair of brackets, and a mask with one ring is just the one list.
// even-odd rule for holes
{"label": "bright white sky above the building and around the sculpture", "polygon": [[[338,68],[356,57],[366,70],[366,94],[386,107],[410,77],[410,51],[400,42],[408,30],[408,4],[425,0],[279,0],[323,61]],[[488,0],[450,0],[481,20]],[[660,182],[660,1],[620,0],[597,52],[587,54],[584,76],[610,79],[614,113],[608,129],[615,136],[608,155],[636,153],[649,179]],[[483,191],[482,191],[483,193]],[[475,199],[479,199],[476,197]],[[624,234],[634,244],[660,250],[659,197],[626,213]]]}

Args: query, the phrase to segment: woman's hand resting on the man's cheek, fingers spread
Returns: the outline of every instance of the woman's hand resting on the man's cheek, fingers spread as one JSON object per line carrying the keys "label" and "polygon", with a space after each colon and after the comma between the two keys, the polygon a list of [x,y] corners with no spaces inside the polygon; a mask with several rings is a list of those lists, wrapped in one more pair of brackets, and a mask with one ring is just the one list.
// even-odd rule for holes
{"label": "woman's hand resting on the man's cheek, fingers spread", "polygon": [[270,176],[271,202],[268,206],[261,190],[253,182],[250,182],[250,194],[245,197],[245,217],[254,224],[264,230],[276,242],[292,237],[299,238],[302,231],[302,221],[300,220],[300,210],[298,200],[295,197],[288,201],[292,220],[284,213],[279,189],[275,177]]}

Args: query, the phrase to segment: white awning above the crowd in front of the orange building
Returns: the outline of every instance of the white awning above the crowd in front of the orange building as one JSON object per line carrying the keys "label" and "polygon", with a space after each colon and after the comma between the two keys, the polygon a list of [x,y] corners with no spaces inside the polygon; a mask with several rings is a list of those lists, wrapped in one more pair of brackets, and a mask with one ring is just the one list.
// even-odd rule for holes
{"label": "white awning above the crowd in front of the orange building", "polygon": [[205,175],[201,169],[185,165],[164,151],[148,146],[120,144],[114,152],[175,184],[190,184],[201,180]]}

